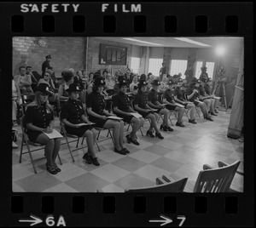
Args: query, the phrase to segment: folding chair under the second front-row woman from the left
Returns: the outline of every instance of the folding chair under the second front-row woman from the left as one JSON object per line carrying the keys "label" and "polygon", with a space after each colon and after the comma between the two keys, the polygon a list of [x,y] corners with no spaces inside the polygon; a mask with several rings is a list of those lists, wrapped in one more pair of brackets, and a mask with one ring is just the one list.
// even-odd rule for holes
{"label": "folding chair under the second front-row woman from the left", "polygon": [[[74,134],[68,134],[67,131],[66,131],[66,128],[65,128],[65,124],[62,122],[61,120],[61,111],[59,113],[59,119],[60,119],[60,124],[61,124],[61,134],[63,134],[65,140],[66,140],[66,143],[67,143],[67,147],[68,147],[68,151],[72,157],[72,160],[74,162],[74,159],[73,159],[73,151],[78,151],[80,149],[84,149],[84,147],[86,147],[87,145],[84,145],[84,137],[83,137],[83,140],[81,142],[81,145],[79,146],[79,140],[80,138],[82,137],[79,137],[77,135],[74,135]],[[71,138],[73,140],[68,140],[68,138]],[[70,143],[73,143],[73,142],[77,142],[77,145],[76,145],[76,148],[71,150],[71,146],[69,145]],[[99,145],[97,144],[97,141],[96,141],[96,145],[98,147],[98,150],[100,151],[100,148],[99,148]]]}

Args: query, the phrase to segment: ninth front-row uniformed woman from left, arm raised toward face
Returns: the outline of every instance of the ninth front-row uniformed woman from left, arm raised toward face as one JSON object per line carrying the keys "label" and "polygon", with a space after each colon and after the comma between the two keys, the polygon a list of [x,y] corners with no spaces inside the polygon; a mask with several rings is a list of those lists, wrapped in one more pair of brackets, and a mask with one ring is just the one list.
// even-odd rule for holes
{"label": "ninth front-row uniformed woman from left, arm raised toward face", "polygon": [[209,120],[209,121],[213,121],[212,117],[209,116],[208,111],[207,111],[207,105],[204,102],[201,102],[198,98],[199,98],[199,92],[196,88],[198,88],[200,85],[200,83],[198,82],[198,80],[194,77],[190,84],[189,84],[189,88],[187,90],[187,97],[188,100],[193,102],[194,105],[196,107],[200,107],[201,112],[204,115],[204,118]]}

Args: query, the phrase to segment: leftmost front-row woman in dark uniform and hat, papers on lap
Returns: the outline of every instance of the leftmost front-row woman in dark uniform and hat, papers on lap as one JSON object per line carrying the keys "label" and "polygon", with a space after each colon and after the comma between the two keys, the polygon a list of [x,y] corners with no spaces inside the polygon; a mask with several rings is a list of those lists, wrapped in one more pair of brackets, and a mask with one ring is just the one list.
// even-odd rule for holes
{"label": "leftmost front-row woman in dark uniform and hat, papers on lap", "polygon": [[61,172],[55,163],[61,146],[61,139],[51,139],[44,133],[51,133],[54,128],[52,106],[48,101],[49,87],[41,83],[35,92],[35,100],[27,105],[25,123],[29,140],[45,145],[46,169],[50,174]]}

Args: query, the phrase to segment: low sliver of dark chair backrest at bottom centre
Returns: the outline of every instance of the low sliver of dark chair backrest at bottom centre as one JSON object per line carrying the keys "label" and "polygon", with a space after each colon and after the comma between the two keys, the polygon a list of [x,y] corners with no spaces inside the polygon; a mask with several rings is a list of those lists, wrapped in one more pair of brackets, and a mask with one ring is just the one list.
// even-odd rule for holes
{"label": "low sliver of dark chair backrest at bottom centre", "polygon": [[188,178],[183,178],[171,183],[163,185],[155,185],[152,187],[143,187],[143,188],[132,188],[125,190],[125,192],[183,192],[184,187],[188,181]]}

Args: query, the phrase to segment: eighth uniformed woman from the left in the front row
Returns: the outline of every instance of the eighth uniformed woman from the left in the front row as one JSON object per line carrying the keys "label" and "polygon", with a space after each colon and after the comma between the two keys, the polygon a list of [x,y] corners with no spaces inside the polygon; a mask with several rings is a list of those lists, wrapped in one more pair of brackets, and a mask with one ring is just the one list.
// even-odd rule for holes
{"label": "eighth uniformed woman from the left in the front row", "polygon": [[184,88],[184,86],[185,85],[183,84],[183,81],[177,82],[177,87],[174,88],[174,91],[173,91],[174,100],[178,104],[184,105],[185,109],[190,109],[189,123],[196,124],[196,122],[195,122],[195,105],[192,102],[185,99],[186,88]]}

